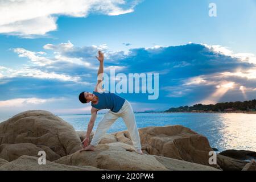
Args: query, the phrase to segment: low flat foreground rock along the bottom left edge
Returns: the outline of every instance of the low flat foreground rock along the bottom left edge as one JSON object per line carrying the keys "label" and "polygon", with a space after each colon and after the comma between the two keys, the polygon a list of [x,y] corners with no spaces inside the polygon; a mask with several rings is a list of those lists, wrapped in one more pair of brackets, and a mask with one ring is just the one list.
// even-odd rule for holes
{"label": "low flat foreground rock along the bottom left edge", "polygon": [[[1,159],[0,159],[1,163]],[[46,161],[46,164],[39,165],[38,158],[34,156],[20,156],[20,158],[0,164],[0,171],[96,171],[101,170],[91,166],[67,166]]]}

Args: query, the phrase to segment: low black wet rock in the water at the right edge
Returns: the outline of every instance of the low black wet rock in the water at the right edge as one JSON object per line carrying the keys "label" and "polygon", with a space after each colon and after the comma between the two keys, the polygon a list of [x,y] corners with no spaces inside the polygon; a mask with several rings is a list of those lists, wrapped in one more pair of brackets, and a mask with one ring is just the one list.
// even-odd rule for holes
{"label": "low black wet rock in the water at the right edge", "polygon": [[238,160],[251,160],[256,159],[256,152],[248,151],[248,150],[226,150],[220,152],[221,155],[228,156],[230,158],[238,159]]}

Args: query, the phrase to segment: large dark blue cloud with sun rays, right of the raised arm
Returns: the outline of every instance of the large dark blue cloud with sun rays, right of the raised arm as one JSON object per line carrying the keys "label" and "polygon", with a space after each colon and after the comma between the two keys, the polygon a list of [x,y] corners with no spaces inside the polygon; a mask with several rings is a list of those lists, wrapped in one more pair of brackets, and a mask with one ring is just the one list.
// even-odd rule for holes
{"label": "large dark blue cloud with sun rays, right of the raised arm", "polygon": [[[127,72],[159,73],[160,98],[168,97],[162,101],[179,106],[201,101],[214,103],[255,98],[254,59],[250,53],[234,53],[221,46],[190,43],[130,49],[122,63],[129,69]],[[245,93],[242,93],[241,86],[250,89],[243,89]]]}

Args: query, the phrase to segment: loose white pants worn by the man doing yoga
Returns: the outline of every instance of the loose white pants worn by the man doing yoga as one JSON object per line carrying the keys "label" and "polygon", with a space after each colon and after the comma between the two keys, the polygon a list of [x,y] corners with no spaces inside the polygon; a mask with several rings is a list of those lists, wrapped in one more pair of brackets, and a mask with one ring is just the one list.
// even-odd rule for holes
{"label": "loose white pants worn by the man doing yoga", "polygon": [[139,137],[139,131],[136,125],[135,115],[133,113],[133,108],[131,107],[130,102],[128,102],[127,100],[125,100],[122,108],[117,113],[109,110],[108,113],[104,115],[100,123],[98,123],[98,127],[90,144],[96,146],[100,142],[106,131],[108,131],[109,127],[119,117],[122,117],[123,121],[125,121],[125,125],[130,133],[134,148],[137,150],[141,149],[141,138]]}

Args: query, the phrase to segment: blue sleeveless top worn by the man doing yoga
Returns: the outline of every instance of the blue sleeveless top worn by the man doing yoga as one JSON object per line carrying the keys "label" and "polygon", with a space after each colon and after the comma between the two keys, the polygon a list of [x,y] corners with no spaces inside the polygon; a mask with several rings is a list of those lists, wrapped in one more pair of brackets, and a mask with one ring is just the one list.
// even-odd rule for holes
{"label": "blue sleeveless top worn by the man doing yoga", "polygon": [[98,93],[94,92],[93,94],[98,97],[98,104],[93,104],[91,102],[91,105],[95,107],[96,109],[110,109],[114,113],[117,113],[123,106],[123,103],[125,103],[125,99],[117,96],[117,94],[110,93],[109,91]]}

